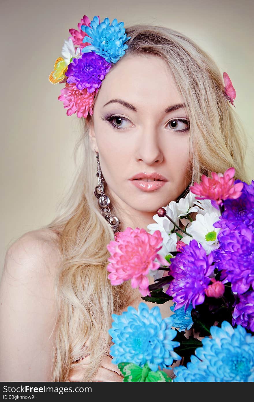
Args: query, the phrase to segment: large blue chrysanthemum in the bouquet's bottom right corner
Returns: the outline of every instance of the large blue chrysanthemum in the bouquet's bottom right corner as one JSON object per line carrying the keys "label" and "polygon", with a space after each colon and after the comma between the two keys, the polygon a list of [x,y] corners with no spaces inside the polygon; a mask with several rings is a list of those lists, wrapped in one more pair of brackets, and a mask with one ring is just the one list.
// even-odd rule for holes
{"label": "large blue chrysanthemum in the bouquet's bottom right corner", "polygon": [[221,328],[212,326],[210,332],[212,338],[202,340],[203,347],[195,350],[196,357],[187,367],[174,368],[177,377],[173,381],[254,381],[254,336],[240,325],[234,329],[227,321]]}

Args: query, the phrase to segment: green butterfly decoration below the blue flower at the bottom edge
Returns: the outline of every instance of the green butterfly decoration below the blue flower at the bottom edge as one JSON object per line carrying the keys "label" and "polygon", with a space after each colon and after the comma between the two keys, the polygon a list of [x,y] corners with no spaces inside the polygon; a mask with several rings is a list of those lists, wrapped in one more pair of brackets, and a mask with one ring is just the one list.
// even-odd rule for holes
{"label": "green butterfly decoration below the blue flower at the bottom edge", "polygon": [[119,363],[119,370],[124,375],[123,381],[132,382],[170,382],[172,379],[162,370],[152,371],[147,363],[143,367],[134,363]]}

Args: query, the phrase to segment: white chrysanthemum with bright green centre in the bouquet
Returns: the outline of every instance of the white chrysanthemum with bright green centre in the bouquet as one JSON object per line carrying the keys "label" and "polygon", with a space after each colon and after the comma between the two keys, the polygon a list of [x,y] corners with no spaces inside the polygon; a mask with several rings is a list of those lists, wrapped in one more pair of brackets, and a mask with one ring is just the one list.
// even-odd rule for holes
{"label": "white chrysanthemum with bright green centre in the bouquet", "polygon": [[189,244],[191,240],[195,239],[205,249],[207,254],[211,251],[219,248],[219,242],[217,240],[217,233],[219,228],[214,228],[213,224],[219,220],[217,212],[197,213],[196,220],[191,222],[190,226],[186,230],[191,236],[184,236],[182,242]]}

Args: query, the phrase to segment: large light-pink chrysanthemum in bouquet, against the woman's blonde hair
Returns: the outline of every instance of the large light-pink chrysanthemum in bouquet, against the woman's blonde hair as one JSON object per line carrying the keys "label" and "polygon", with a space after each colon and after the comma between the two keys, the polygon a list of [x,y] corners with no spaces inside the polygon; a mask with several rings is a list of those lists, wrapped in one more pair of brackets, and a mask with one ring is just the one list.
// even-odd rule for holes
{"label": "large light-pink chrysanthemum in bouquet, against the woman's blonde hair", "polygon": [[[149,234],[145,229],[127,228],[118,232],[115,240],[108,245],[111,257],[107,270],[111,285],[120,285],[131,279],[131,286],[138,287],[142,296],[150,296],[149,280],[146,276],[149,270],[156,270],[162,265],[169,265],[158,251],[162,248],[162,236],[159,230]],[[155,258],[160,263],[155,263]]]}

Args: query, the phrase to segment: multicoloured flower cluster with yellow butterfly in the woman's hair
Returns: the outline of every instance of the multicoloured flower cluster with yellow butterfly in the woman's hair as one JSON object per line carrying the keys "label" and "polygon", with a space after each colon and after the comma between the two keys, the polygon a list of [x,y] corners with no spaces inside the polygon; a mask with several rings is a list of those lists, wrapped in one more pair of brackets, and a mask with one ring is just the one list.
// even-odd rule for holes
{"label": "multicoloured flower cluster with yellow butterfly in the woman's hair", "polygon": [[78,117],[92,116],[94,98],[102,80],[111,69],[112,64],[125,54],[130,39],[125,33],[123,22],[115,18],[110,23],[105,18],[94,16],[90,21],[84,15],[78,29],[69,29],[71,36],[64,42],[62,56],[55,61],[54,69],[49,75],[52,84],[65,82],[58,100],[63,102],[67,115],[77,113]]}

